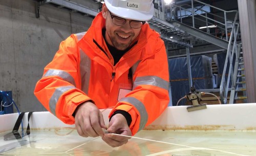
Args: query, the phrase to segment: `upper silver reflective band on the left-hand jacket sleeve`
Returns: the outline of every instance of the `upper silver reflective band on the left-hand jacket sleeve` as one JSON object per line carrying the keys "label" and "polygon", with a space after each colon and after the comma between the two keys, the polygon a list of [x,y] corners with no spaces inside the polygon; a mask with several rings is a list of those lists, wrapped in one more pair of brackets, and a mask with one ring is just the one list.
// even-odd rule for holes
{"label": "upper silver reflective band on the left-hand jacket sleeve", "polygon": [[76,86],[75,80],[74,78],[67,72],[62,71],[62,70],[48,70],[46,72],[46,74],[42,77],[47,77],[47,76],[59,76],[61,77],[63,80],[73,84],[74,86]]}

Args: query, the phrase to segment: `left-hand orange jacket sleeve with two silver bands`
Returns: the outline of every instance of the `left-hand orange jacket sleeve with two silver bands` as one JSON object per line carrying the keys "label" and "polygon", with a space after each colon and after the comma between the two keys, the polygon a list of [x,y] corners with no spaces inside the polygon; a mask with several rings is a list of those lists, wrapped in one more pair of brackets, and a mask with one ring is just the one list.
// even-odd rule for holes
{"label": "left-hand orange jacket sleeve with two silver bands", "polygon": [[77,38],[62,41],[53,60],[36,83],[34,94],[46,109],[66,124],[74,124],[77,105],[92,100],[81,91]]}

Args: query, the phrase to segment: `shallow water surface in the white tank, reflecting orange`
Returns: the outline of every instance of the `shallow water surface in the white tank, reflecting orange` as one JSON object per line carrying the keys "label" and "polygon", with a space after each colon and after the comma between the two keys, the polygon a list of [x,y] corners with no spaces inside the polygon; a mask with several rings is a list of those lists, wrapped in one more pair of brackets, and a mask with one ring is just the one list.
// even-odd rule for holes
{"label": "shallow water surface in the white tank, reflecting orange", "polygon": [[113,148],[100,137],[83,138],[71,128],[31,130],[18,140],[2,132],[0,155],[256,155],[255,136],[253,131],[142,130],[135,137],[147,140],[132,138]]}

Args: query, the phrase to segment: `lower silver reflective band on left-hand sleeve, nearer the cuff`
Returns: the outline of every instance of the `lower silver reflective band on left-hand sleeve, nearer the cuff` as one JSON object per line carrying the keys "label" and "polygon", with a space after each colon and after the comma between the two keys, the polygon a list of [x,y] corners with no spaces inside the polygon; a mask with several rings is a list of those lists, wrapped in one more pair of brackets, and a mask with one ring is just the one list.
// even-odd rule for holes
{"label": "lower silver reflective band on left-hand sleeve, nearer the cuff", "polygon": [[63,93],[72,90],[73,88],[75,88],[74,86],[61,86],[58,87],[55,92],[53,93],[50,101],[49,101],[49,107],[51,110],[51,113],[54,114],[56,116],[56,104],[59,100],[59,97],[61,95],[63,95]]}

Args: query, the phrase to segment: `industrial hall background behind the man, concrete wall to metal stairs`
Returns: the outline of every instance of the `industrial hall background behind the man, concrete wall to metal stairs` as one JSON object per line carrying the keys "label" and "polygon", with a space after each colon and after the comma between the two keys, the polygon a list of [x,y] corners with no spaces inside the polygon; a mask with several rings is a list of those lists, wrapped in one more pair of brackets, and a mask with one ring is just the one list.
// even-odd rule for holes
{"label": "industrial hall background behind the man, concrete wall to metal stairs", "polygon": [[[209,104],[256,102],[254,0],[153,3],[148,24],[165,43],[169,105],[189,104],[182,98],[192,86],[210,93],[202,97]],[[86,32],[101,6],[100,0],[0,0],[0,90],[12,97],[20,112],[46,110],[33,94],[36,82],[59,43]]]}

